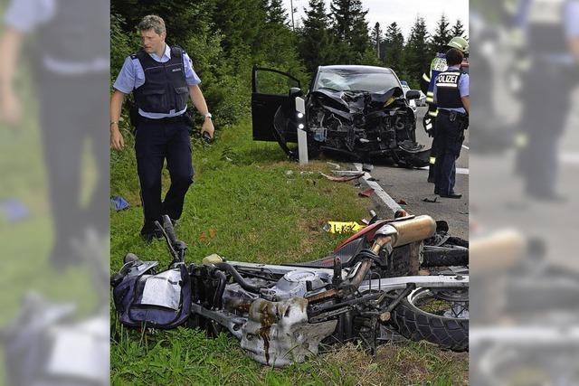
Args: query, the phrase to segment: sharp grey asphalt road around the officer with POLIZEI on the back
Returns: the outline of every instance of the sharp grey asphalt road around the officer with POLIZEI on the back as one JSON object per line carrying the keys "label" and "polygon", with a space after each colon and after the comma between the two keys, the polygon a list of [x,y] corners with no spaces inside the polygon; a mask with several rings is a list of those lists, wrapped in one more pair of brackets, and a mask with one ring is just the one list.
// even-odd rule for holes
{"label": "sharp grey asphalt road around the officer with POLIZEI on the back", "polygon": [[[416,140],[430,148],[432,138],[429,138],[422,128],[422,117],[427,108],[419,108],[418,123],[416,127]],[[465,141],[460,158],[457,160],[457,168],[468,171],[469,167],[469,131],[465,133]],[[388,193],[395,202],[401,204],[406,212],[411,214],[428,214],[435,220],[444,220],[449,223],[453,235],[464,239],[469,237],[469,174],[457,174],[455,191],[462,193],[459,200],[442,198],[433,193],[434,184],[427,183],[427,170],[405,169],[394,166],[374,165],[370,172],[377,183]],[[379,200],[373,195],[374,200]],[[423,199],[436,202],[424,202]],[[402,201],[405,203],[401,203]],[[383,214],[392,216],[392,211],[385,210]]]}

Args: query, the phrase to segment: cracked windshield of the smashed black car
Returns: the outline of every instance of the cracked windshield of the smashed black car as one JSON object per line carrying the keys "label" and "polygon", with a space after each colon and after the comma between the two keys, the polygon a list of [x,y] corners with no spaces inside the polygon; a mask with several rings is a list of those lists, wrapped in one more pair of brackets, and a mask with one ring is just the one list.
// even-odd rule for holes
{"label": "cracked windshield of the smashed black car", "polygon": [[319,73],[315,89],[379,92],[393,87],[400,87],[400,83],[392,72],[333,70]]}

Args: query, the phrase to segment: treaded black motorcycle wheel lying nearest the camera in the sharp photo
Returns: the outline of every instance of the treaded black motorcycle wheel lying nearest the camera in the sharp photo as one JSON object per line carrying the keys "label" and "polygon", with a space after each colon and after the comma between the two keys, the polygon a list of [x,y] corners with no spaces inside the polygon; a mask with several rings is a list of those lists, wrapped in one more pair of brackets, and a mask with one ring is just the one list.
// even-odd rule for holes
{"label": "treaded black motorcycle wheel lying nearest the camera in the sharp photo", "polygon": [[392,316],[406,338],[457,352],[469,349],[468,288],[416,288]]}

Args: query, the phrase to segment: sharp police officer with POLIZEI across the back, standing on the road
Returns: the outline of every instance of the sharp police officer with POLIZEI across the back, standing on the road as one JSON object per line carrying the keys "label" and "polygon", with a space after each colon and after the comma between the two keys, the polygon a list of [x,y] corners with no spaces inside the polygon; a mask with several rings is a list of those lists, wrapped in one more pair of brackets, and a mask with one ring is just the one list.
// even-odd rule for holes
{"label": "sharp police officer with POLIZEI across the back, standing on the road", "polygon": [[448,70],[436,77],[433,89],[434,102],[438,105],[436,129],[440,140],[434,193],[456,199],[462,194],[454,192],[455,163],[460,155],[464,130],[469,126],[470,109],[469,74],[460,71],[462,59],[462,52],[457,49],[446,52]]}

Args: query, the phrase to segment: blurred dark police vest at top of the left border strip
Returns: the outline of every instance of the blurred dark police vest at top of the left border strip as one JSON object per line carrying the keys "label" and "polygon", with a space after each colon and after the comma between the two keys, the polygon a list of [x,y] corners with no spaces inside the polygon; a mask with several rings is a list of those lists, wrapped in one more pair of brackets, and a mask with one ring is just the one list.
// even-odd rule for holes
{"label": "blurred dark police vest at top of the left border strip", "polygon": [[109,13],[107,1],[54,0],[52,19],[38,33],[40,59],[48,56],[75,64],[109,61]]}

